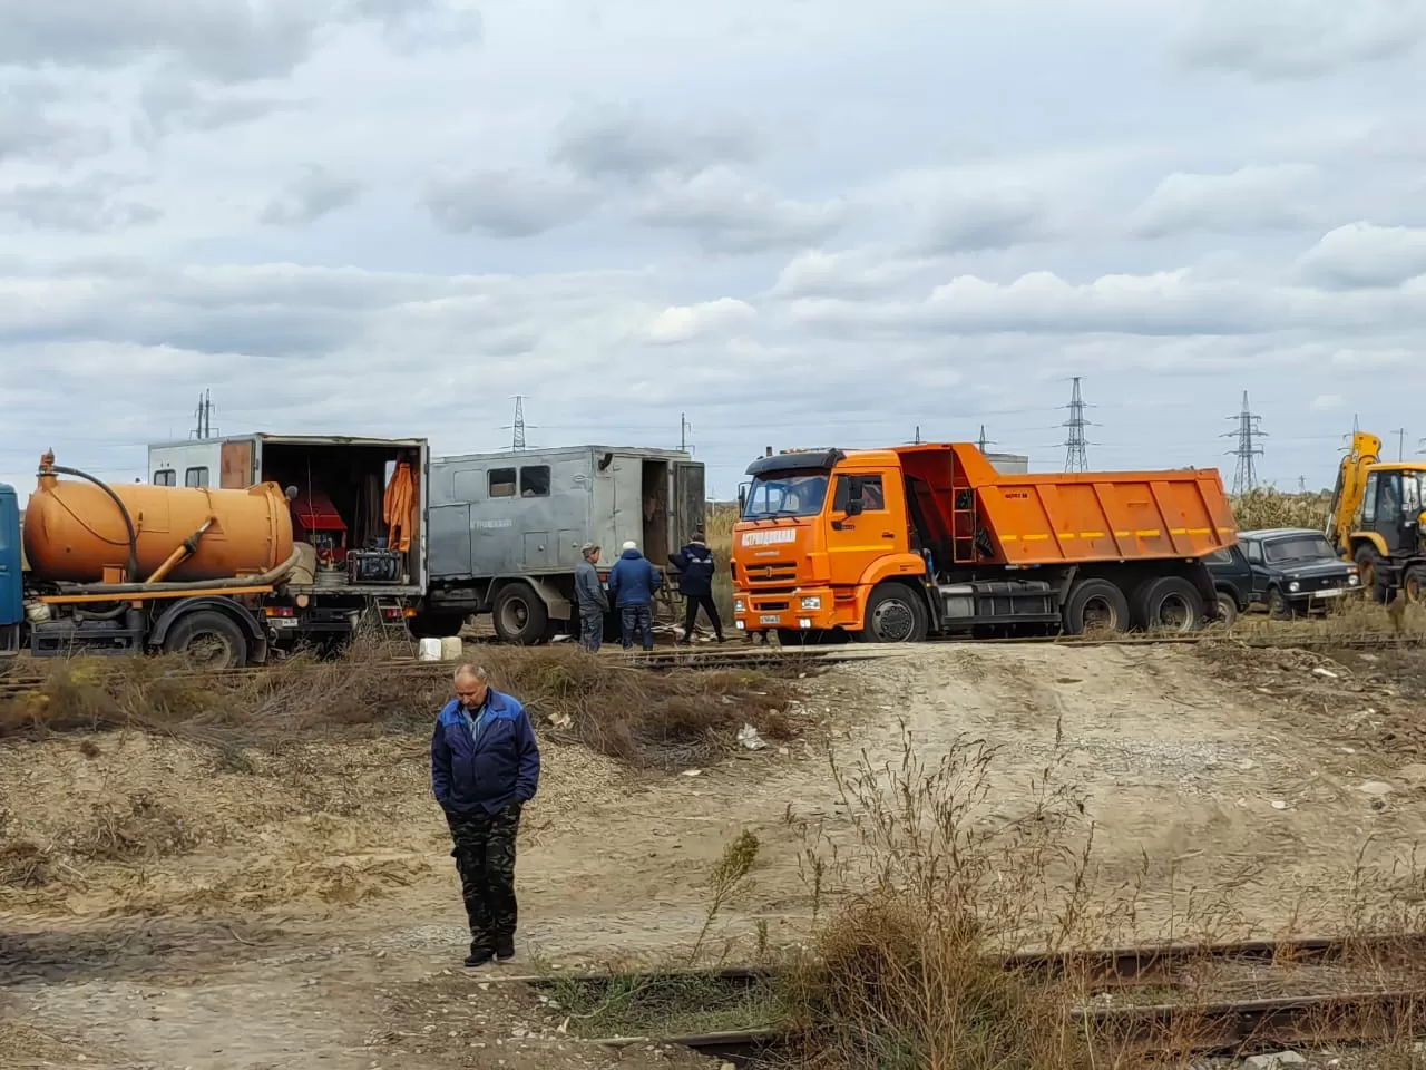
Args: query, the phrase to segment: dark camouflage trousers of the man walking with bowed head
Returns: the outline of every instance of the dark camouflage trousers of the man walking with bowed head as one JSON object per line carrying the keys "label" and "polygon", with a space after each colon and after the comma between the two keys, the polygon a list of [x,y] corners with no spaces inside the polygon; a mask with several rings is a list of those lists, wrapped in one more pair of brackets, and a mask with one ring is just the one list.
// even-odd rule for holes
{"label": "dark camouflage trousers of the man walking with bowed head", "polygon": [[471,947],[496,954],[515,942],[515,837],[520,829],[520,805],[486,813],[446,813],[455,847],[461,897],[471,922]]}

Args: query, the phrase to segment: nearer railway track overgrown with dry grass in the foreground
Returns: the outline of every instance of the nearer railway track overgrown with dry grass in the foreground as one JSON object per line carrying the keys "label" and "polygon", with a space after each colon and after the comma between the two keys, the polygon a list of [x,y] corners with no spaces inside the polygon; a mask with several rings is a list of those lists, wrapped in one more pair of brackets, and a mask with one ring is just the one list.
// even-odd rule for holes
{"label": "nearer railway track overgrown with dry grass in the foreground", "polygon": [[[1065,1024],[1097,1050],[1182,1057],[1426,1036],[1423,956],[1426,933],[1027,953],[997,962],[1002,969],[1031,980],[1071,982],[1070,990],[1078,1003],[1071,1002],[1065,1007]],[[1259,987],[1296,986],[1299,990],[1243,997],[1209,994],[1205,999],[1199,992],[1202,986],[1192,977],[1204,970],[1239,970]],[[640,980],[656,986],[689,977],[737,987],[771,983],[777,973],[734,967],[620,974],[619,980],[623,990],[629,990],[640,987]],[[556,983],[550,977],[508,980],[535,986]],[[613,977],[583,974],[562,980],[599,984]],[[630,982],[635,983],[630,986]],[[1219,986],[1226,983],[1218,980]],[[1323,986],[1332,990],[1320,992]],[[1206,987],[1211,993],[1212,986]],[[1179,992],[1184,999],[1165,999],[1166,990]],[[1145,999],[1145,994],[1152,999]],[[590,1043],[607,1047],[682,1046],[754,1066],[767,1057],[786,1056],[796,1041],[786,1031],[770,1027],[682,1036],[616,1036]]]}

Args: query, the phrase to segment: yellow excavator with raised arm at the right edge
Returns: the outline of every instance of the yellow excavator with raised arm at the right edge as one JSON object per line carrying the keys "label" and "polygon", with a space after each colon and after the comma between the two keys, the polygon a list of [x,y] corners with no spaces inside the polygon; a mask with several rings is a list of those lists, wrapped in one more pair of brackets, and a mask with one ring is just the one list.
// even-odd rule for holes
{"label": "yellow excavator with raised arm at the right edge", "polygon": [[1380,438],[1353,434],[1325,534],[1378,602],[1396,589],[1409,602],[1426,599],[1426,464],[1383,462]]}

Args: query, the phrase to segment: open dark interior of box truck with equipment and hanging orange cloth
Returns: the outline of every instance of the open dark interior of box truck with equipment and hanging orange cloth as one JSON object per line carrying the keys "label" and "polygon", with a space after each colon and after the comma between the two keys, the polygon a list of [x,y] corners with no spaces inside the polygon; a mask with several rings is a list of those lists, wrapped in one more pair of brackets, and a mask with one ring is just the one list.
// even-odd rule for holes
{"label": "open dark interior of box truck with equipment and hanging orange cloth", "polygon": [[391,447],[264,442],[258,478],[297,489],[294,535],[312,548],[304,561],[311,578],[298,576],[298,584],[409,582],[419,571],[416,468],[411,451]]}

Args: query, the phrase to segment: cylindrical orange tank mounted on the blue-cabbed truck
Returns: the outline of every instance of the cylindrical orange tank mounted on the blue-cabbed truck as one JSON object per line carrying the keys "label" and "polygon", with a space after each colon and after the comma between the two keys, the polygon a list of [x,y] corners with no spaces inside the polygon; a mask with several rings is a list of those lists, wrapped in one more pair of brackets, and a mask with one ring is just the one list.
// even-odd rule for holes
{"label": "cylindrical orange tank mounted on the blue-cabbed truck", "polygon": [[[197,551],[164,579],[195,582],[258,575],[292,555],[292,514],[282,488],[245,491],[118,484],[138,536],[138,575],[148,579],[202,528]],[[128,532],[114,501],[94,484],[41,471],[24,509],[24,556],[41,581],[98,584],[128,571]]]}

